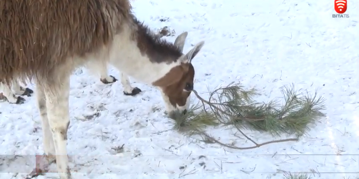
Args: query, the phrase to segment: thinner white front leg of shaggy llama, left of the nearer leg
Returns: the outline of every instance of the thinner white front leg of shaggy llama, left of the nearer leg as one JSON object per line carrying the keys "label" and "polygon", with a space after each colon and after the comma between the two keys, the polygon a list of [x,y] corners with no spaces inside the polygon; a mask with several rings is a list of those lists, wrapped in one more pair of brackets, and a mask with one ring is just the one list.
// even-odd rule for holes
{"label": "thinner white front leg of shaggy llama, left of the nearer leg", "polygon": [[[46,108],[46,97],[44,89],[39,85],[36,86],[37,93],[37,105],[39,108],[39,113],[41,116],[42,123],[42,142],[46,156],[52,156],[56,154],[55,145],[52,139],[52,132],[47,118],[47,108]],[[53,159],[52,159],[53,160]],[[49,161],[51,162],[51,161]]]}

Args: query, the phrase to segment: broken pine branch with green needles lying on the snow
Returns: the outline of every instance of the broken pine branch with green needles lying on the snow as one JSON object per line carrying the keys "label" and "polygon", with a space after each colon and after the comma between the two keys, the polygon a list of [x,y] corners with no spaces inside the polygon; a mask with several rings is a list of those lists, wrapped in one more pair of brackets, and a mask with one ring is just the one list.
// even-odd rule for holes
{"label": "broken pine branch with green needles lying on the snow", "polygon": [[[298,141],[300,136],[307,134],[311,124],[316,124],[321,117],[325,117],[321,112],[326,109],[325,99],[318,97],[317,92],[310,95],[308,92],[295,91],[294,85],[280,90],[285,101],[283,105],[280,105],[278,100],[268,103],[254,101],[253,97],[259,95],[256,89],[245,90],[240,83],[230,83],[228,86],[209,90],[208,100],[194,90],[201,103],[192,105],[186,115],[176,116],[173,129],[188,136],[200,135],[208,143],[242,150],[276,142]],[[237,147],[224,144],[205,132],[208,126],[233,126],[246,139],[253,142],[254,146]],[[257,144],[244,134],[242,129],[269,132],[272,136],[295,134],[296,137]]]}

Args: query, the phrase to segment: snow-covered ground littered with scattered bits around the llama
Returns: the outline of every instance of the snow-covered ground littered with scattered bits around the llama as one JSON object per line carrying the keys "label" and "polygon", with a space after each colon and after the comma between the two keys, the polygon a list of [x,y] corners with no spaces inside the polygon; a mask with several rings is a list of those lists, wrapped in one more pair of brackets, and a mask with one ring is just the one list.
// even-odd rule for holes
{"label": "snow-covered ground littered with scattered bits around the llama", "polygon": [[[268,101],[280,96],[280,87],[295,83],[296,89],[318,88],[327,99],[327,117],[299,142],[225,149],[166,131],[172,125],[157,89],[131,79],[143,92],[124,96],[120,82],[106,85],[79,69],[71,79],[68,131],[74,179],[281,179],[282,170],[311,169],[320,173],[313,179],[359,177],[359,1],[349,0],[349,18],[332,18],[333,5],[332,0],[135,0],[137,18],[151,28],[188,31],[185,52],[205,40],[193,61],[200,95],[206,97],[207,86],[241,81],[260,90],[256,100]],[[120,77],[113,68],[109,74]],[[22,178],[34,167],[22,161],[34,163],[33,155],[43,153],[36,97],[25,98],[23,105],[0,103],[0,154],[28,155],[9,167],[0,165],[1,179]],[[258,142],[272,140],[246,133]],[[211,134],[252,145],[230,130]],[[122,144],[124,151],[112,149]]]}

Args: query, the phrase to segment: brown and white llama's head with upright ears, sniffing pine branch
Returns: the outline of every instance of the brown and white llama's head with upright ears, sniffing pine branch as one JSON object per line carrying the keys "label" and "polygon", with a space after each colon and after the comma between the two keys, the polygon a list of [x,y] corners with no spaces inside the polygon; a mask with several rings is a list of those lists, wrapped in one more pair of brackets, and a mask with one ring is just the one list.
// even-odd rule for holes
{"label": "brown and white llama's head with upright ears, sniffing pine branch", "polygon": [[[180,34],[174,41],[181,51],[185,45],[188,33]],[[204,45],[204,41],[197,43],[186,54],[177,59],[178,66],[173,67],[164,77],[154,83],[161,90],[165,102],[166,111],[170,118],[174,118],[176,113],[185,114],[190,106],[190,95],[194,87],[195,69],[192,66],[192,59],[197,55]]]}

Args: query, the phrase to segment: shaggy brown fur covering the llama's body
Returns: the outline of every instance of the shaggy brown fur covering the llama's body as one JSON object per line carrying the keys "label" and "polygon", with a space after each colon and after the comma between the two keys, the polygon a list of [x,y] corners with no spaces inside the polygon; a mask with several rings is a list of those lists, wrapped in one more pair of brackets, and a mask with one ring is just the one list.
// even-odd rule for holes
{"label": "shaggy brown fur covering the llama's body", "polygon": [[6,84],[52,76],[67,58],[111,43],[132,20],[128,0],[1,0],[0,13],[0,81]]}

